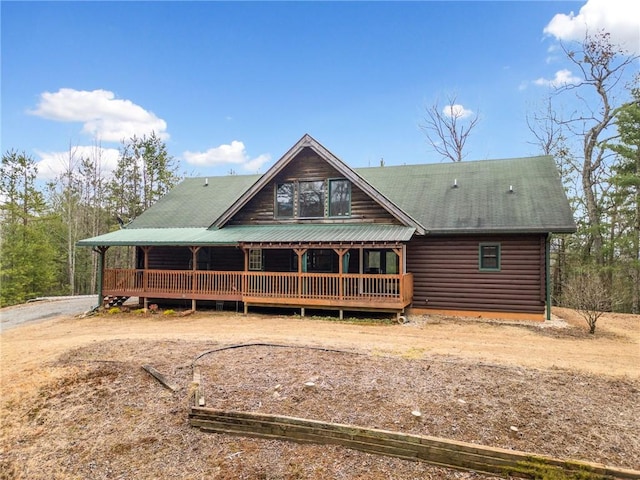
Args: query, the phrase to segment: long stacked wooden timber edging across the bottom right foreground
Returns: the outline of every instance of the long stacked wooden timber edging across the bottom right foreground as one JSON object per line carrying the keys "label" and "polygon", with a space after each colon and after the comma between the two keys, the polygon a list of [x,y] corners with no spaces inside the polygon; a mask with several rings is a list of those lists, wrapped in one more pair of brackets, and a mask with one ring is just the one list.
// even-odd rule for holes
{"label": "long stacked wooden timber edging across the bottom right foreground", "polygon": [[204,432],[341,445],[378,455],[494,475],[551,478],[551,475],[566,473],[584,479],[640,479],[640,471],[626,468],[295,417],[192,407],[189,418],[191,426]]}

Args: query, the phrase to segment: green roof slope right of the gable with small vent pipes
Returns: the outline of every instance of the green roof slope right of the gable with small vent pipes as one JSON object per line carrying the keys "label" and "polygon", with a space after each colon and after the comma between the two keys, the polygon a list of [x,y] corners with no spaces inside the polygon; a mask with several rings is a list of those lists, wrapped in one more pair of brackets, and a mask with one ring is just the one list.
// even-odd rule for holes
{"label": "green roof slope right of the gable with small vent pipes", "polygon": [[575,231],[550,156],[355,170],[429,233]]}

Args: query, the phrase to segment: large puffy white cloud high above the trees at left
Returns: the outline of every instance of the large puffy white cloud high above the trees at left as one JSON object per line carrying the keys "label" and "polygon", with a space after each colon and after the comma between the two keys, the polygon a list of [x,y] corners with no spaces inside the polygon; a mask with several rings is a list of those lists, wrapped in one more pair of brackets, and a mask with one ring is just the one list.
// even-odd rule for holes
{"label": "large puffy white cloud high above the trees at left", "polygon": [[108,90],[61,88],[54,93],[44,92],[37,108],[29,113],[58,122],[82,122],[84,133],[105,142],[151,132],[163,140],[169,137],[164,120],[130,100],[115,98]]}

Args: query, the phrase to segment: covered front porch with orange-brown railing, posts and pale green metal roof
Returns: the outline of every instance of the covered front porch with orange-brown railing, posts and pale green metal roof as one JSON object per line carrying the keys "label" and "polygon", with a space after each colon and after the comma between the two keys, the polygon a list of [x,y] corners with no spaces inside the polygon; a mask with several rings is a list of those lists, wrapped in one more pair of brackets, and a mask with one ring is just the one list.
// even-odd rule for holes
{"label": "covered front porch with orange-brown railing, posts and pale green metal roof", "polygon": [[[229,242],[230,231],[244,238]],[[101,268],[103,299],[139,297],[145,307],[157,299],[190,300],[194,310],[198,301],[236,301],[245,313],[251,306],[273,306],[300,308],[303,315],[305,308],[338,310],[342,316],[345,310],[400,315],[413,298],[413,275],[406,272],[413,229],[405,227],[281,227],[277,237],[273,229],[236,227],[225,229],[224,241],[210,241],[220,240],[222,231],[216,237],[206,232],[191,244],[167,241],[167,232],[160,232],[162,242],[125,243],[139,233],[120,232],[102,237],[109,243],[92,239],[103,266],[110,246],[133,244],[137,252],[136,268]]]}

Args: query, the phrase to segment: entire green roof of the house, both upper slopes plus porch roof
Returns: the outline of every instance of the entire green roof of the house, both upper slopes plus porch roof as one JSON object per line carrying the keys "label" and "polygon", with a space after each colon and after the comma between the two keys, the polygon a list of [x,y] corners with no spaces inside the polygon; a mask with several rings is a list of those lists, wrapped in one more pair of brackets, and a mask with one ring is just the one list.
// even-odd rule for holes
{"label": "entire green roof of the house, both upper slopes plus porch roof", "polygon": [[568,233],[576,228],[550,156],[353,171],[356,183],[367,191],[373,187],[370,193],[384,198],[390,212],[403,212],[404,216],[394,216],[401,221],[411,219],[410,225],[277,224],[217,229],[211,225],[246,197],[248,190],[259,191],[262,178],[230,175],[185,179],[125,229],[82,240],[79,245],[406,241],[416,231]]}

